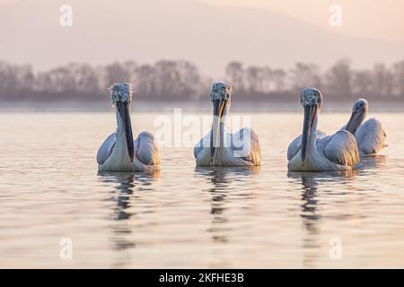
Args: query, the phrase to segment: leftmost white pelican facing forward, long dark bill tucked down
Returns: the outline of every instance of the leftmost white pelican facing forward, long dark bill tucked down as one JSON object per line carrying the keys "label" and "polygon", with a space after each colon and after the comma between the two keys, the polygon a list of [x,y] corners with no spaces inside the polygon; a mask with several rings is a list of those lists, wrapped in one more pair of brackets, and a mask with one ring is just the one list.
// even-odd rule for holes
{"label": "leftmost white pelican facing forward, long dark bill tucked down", "polygon": [[140,133],[133,141],[130,123],[132,85],[115,83],[110,89],[110,100],[116,108],[117,131],[101,144],[97,153],[99,171],[155,171],[160,170],[160,155],[154,136]]}

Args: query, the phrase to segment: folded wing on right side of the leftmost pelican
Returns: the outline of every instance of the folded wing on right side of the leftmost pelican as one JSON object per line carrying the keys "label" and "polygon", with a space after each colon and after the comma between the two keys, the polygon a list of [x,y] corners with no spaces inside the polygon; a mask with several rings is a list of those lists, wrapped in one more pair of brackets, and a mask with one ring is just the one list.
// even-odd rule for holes
{"label": "folded wing on right side of the leftmost pelican", "polygon": [[140,133],[134,141],[134,148],[139,161],[146,165],[160,164],[160,152],[154,135],[148,132]]}

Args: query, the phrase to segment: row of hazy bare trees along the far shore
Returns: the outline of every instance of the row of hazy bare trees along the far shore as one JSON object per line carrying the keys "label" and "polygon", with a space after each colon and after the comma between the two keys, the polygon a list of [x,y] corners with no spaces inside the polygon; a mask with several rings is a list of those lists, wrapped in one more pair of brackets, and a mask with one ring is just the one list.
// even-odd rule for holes
{"label": "row of hazy bare trees along the far shore", "polygon": [[[320,88],[331,100],[404,100],[404,60],[357,70],[349,60],[341,59],[327,71],[304,63],[285,70],[232,62],[224,74],[238,100],[296,100],[306,86]],[[154,65],[127,61],[100,66],[74,63],[43,72],[34,72],[31,65],[0,61],[1,101],[108,100],[110,84],[123,81],[134,84],[136,99],[171,101],[205,100],[214,79],[200,74],[198,67],[187,61],[162,60]]]}

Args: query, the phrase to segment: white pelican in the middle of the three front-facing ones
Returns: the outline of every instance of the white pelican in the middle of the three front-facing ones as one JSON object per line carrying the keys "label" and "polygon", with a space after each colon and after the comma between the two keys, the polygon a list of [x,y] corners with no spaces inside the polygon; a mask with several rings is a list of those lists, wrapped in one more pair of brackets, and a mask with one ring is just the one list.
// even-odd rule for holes
{"label": "white pelican in the middle of the three front-facing ones", "polygon": [[244,127],[234,134],[224,133],[224,124],[230,109],[232,87],[214,83],[210,98],[213,103],[212,130],[195,146],[198,166],[259,166],[261,149],[255,132]]}

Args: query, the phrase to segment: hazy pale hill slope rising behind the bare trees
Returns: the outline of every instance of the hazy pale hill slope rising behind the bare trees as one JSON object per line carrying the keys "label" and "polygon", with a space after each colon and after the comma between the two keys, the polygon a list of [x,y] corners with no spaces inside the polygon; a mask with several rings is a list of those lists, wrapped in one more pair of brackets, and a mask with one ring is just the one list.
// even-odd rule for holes
{"label": "hazy pale hill slope rising behind the bare trees", "polygon": [[[74,26],[59,25],[60,4],[74,8]],[[353,39],[259,9],[217,7],[195,0],[36,0],[0,5],[0,59],[45,69],[68,62],[185,59],[221,75],[237,60],[323,67],[349,57],[356,66],[404,58],[404,45]]]}

